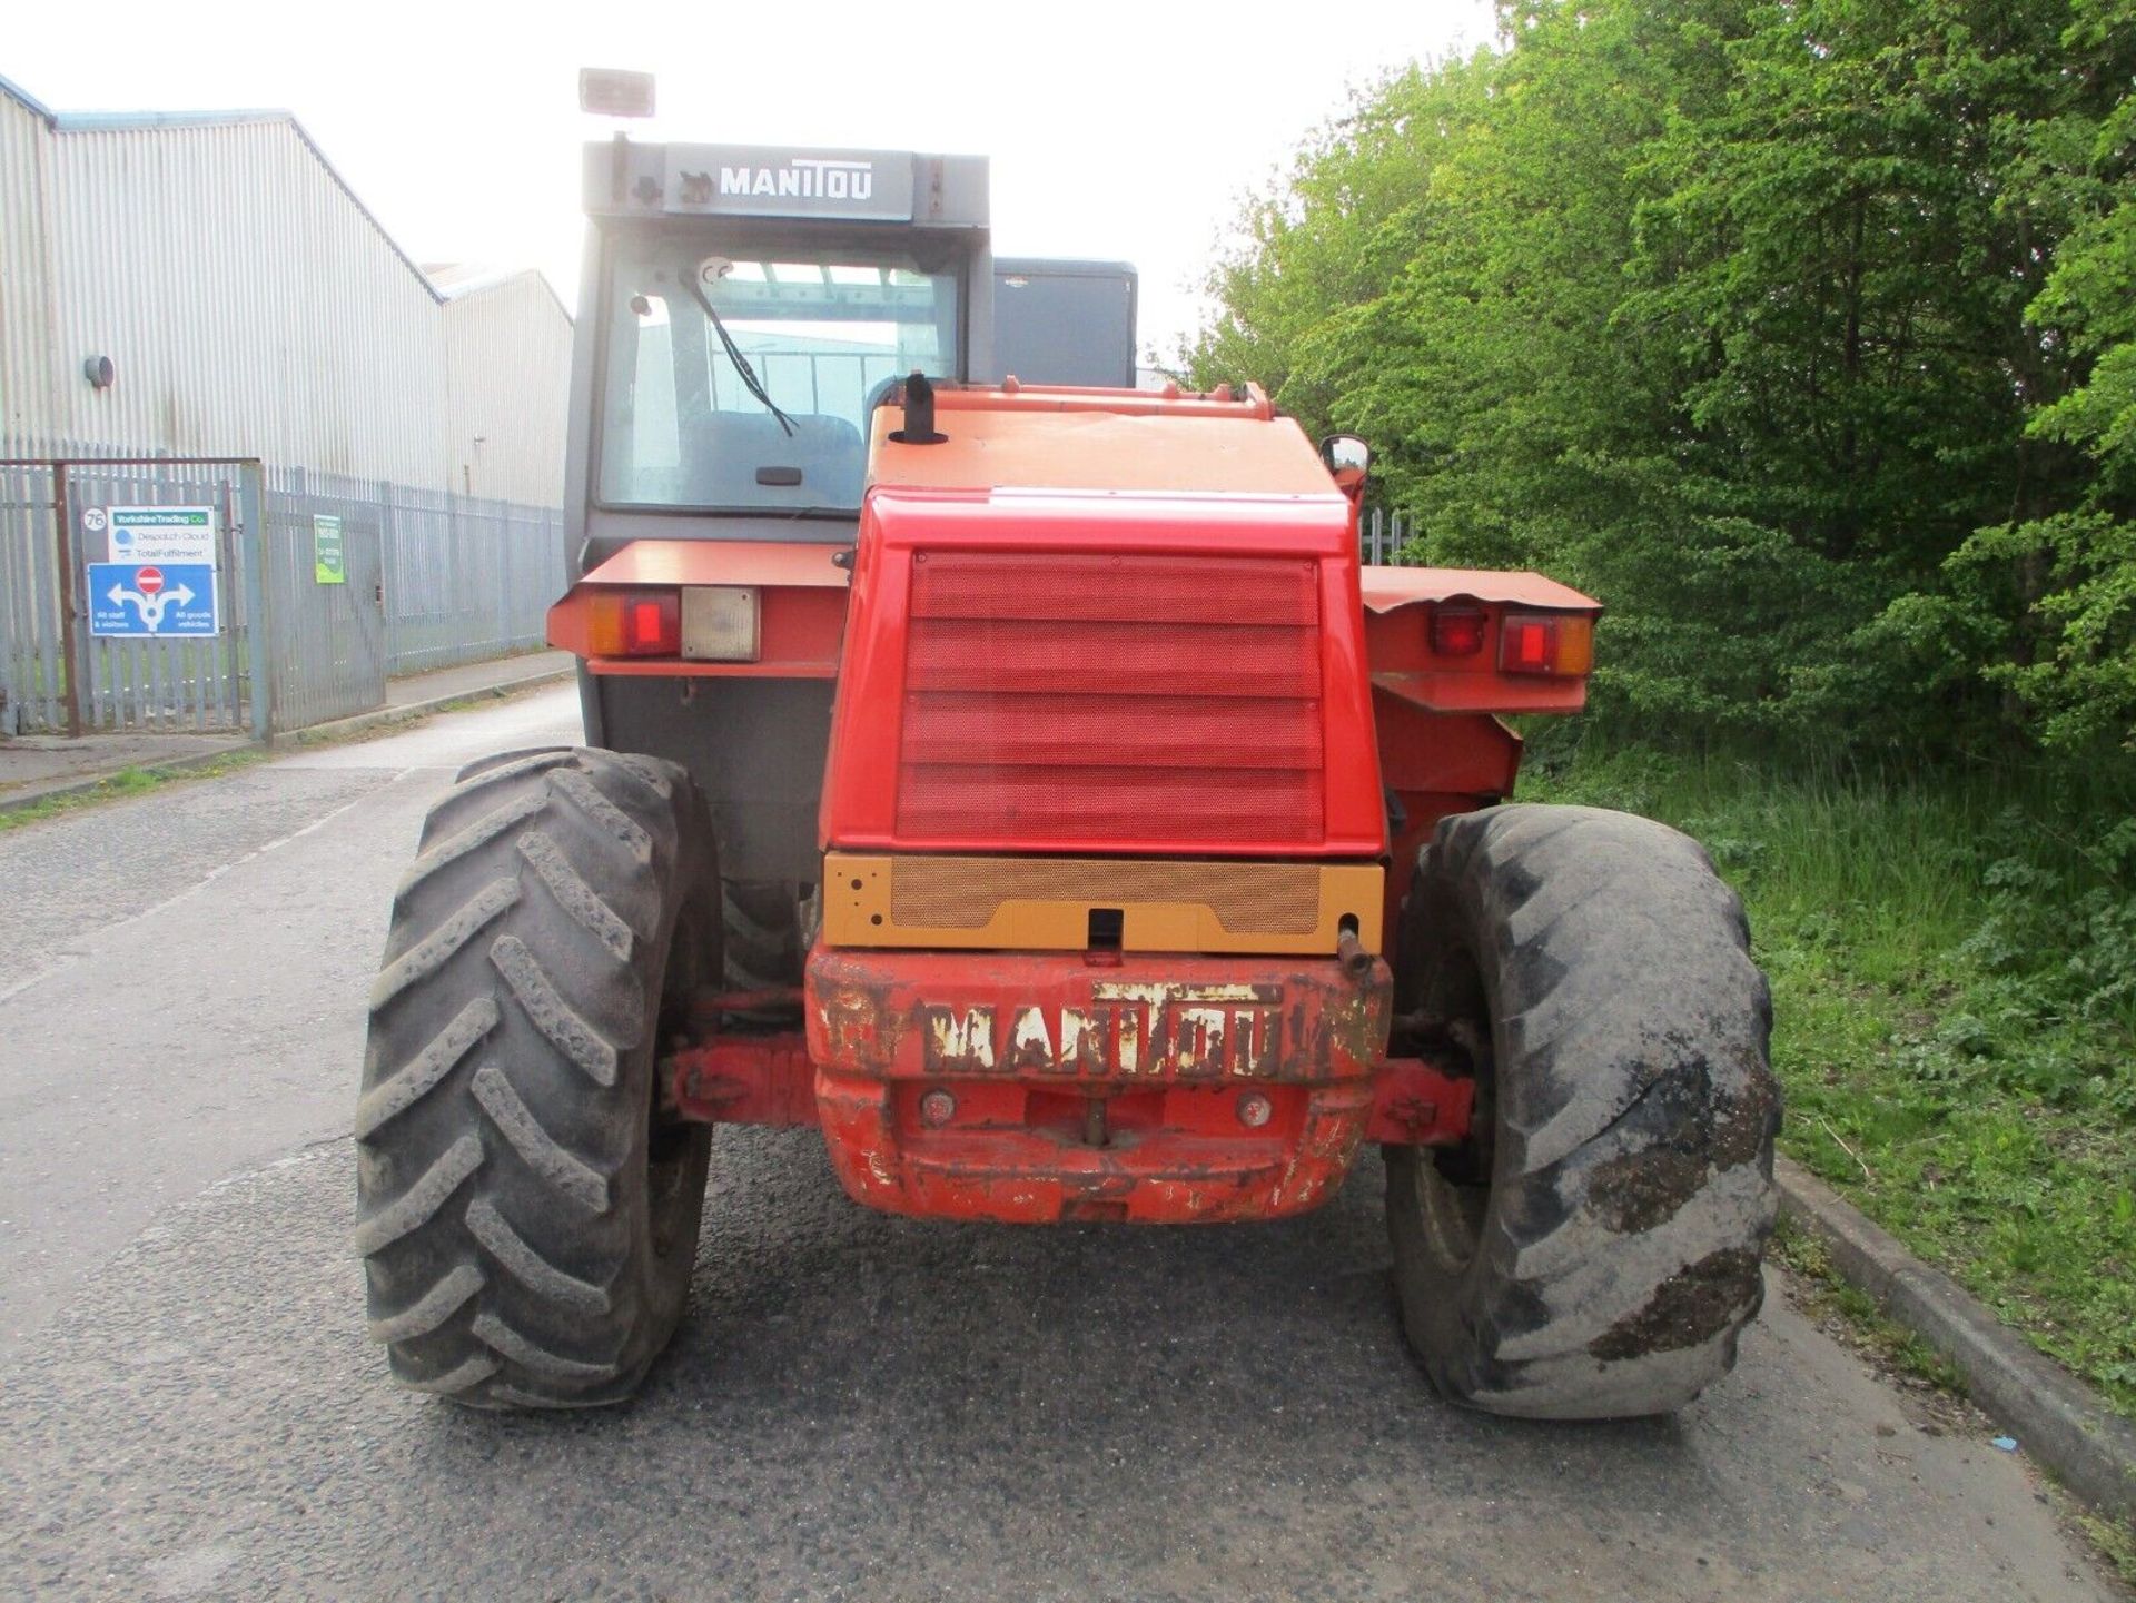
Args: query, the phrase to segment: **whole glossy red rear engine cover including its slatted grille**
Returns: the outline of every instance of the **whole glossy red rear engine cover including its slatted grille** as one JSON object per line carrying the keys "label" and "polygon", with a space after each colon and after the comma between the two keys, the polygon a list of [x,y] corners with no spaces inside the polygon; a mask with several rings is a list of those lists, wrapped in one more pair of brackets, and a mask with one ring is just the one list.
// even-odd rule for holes
{"label": "whole glossy red rear engine cover including its slatted grille", "polygon": [[1337,497],[876,489],[824,845],[1376,856]]}

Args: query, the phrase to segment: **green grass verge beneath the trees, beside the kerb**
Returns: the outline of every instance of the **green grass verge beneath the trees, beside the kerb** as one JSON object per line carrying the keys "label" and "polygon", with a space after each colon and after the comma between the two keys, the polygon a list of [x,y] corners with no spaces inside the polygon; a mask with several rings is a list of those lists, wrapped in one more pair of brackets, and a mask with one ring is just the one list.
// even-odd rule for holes
{"label": "green grass verge beneath the trees, beside the kerb", "polygon": [[1743,892],[1781,1146],[2136,1417],[2130,798],[1538,745],[1525,800],[1660,818]]}

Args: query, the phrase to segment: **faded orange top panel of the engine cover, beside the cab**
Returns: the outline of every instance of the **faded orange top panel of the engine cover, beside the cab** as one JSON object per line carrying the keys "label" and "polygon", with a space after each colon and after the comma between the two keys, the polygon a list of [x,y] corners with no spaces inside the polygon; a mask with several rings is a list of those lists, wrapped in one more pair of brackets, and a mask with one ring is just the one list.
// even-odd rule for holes
{"label": "faded orange top panel of the engine cover, beside the cab", "polygon": [[1038,384],[936,391],[940,444],[891,440],[876,408],[869,485],[938,491],[1171,491],[1341,499],[1320,453],[1254,386],[1207,395]]}

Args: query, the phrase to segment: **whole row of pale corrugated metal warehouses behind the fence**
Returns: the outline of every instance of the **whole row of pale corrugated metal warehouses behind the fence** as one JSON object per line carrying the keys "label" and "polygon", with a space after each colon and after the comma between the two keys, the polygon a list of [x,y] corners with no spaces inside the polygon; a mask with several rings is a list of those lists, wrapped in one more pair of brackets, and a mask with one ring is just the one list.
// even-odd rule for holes
{"label": "whole row of pale corrugated metal warehouses behind the fence", "polygon": [[286,111],[51,113],[0,79],[0,455],[553,506],[568,369],[536,273],[434,284]]}

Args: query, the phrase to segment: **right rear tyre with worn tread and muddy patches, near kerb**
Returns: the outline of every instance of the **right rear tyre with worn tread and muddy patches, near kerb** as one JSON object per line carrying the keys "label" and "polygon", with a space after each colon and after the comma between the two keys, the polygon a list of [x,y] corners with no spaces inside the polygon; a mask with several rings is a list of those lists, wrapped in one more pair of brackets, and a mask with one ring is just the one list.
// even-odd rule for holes
{"label": "right rear tyre with worn tread and muddy patches, near kerb", "polygon": [[1395,1291],[1433,1385],[1606,1419],[1726,1375],[1764,1298],[1779,1093],[1743,905],[1707,854],[1591,807],[1444,820],[1395,1012],[1412,1050],[1478,1078],[1470,1144],[1386,1148]]}

